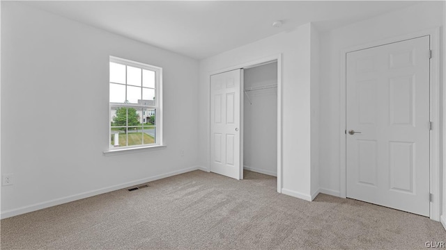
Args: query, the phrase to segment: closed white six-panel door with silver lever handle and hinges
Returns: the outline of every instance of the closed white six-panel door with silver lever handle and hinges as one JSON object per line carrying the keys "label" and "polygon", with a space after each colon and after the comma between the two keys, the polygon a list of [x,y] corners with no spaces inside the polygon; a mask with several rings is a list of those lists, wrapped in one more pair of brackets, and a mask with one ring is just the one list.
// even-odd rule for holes
{"label": "closed white six-panel door with silver lever handle and hinges", "polygon": [[429,216],[429,48],[424,36],[347,53],[347,197]]}

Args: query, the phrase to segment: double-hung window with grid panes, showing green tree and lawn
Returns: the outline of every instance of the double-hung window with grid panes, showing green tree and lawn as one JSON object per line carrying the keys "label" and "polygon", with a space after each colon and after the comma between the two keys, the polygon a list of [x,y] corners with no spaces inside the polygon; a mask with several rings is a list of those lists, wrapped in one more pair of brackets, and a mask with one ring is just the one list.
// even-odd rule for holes
{"label": "double-hung window with grid panes, showing green tree and lawn", "polygon": [[110,56],[109,72],[109,149],[162,145],[162,68]]}

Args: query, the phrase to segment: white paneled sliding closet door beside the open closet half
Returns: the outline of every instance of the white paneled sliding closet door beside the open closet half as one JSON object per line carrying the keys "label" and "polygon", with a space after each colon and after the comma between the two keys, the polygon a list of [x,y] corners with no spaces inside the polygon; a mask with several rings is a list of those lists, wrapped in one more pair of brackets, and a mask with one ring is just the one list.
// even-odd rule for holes
{"label": "white paneled sliding closet door beside the open closet half", "polygon": [[240,180],[241,69],[210,76],[210,171]]}

